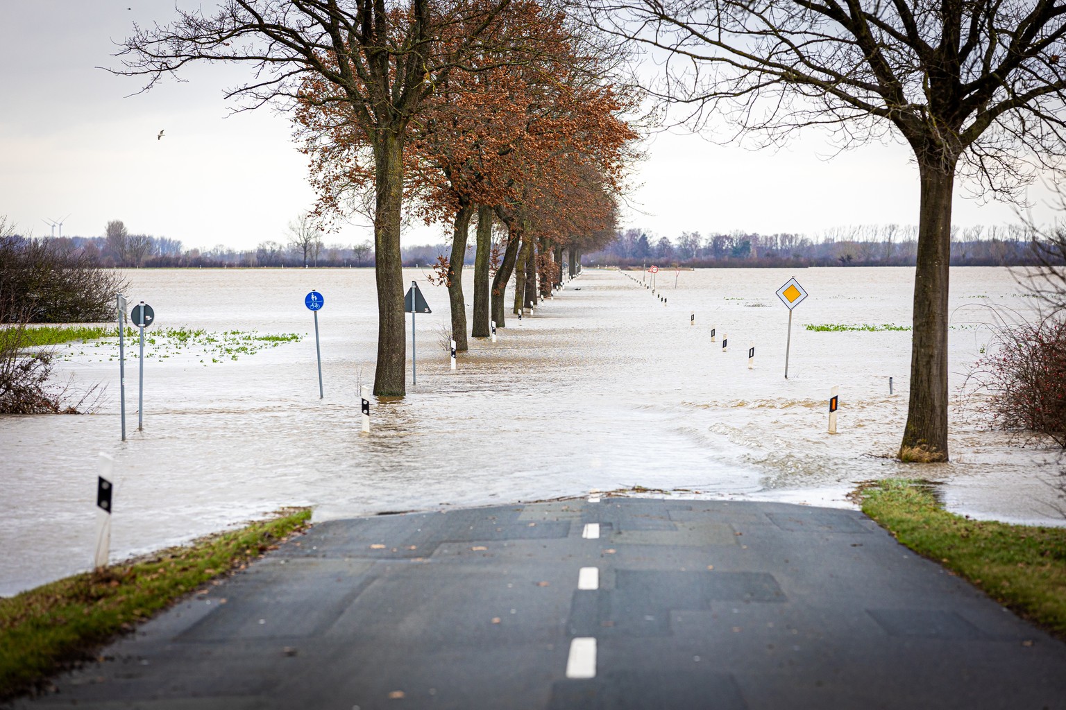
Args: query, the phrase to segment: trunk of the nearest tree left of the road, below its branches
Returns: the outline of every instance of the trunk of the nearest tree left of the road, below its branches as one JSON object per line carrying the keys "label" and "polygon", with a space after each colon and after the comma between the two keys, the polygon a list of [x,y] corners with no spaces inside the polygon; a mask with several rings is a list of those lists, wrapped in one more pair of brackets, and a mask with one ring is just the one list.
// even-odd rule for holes
{"label": "trunk of the nearest tree left of the road, below its branches", "polygon": [[404,369],[404,283],[400,261],[400,217],[403,207],[403,138],[398,132],[379,131],[374,143],[374,277],[377,283],[377,365],[374,394],[402,397],[406,392]]}

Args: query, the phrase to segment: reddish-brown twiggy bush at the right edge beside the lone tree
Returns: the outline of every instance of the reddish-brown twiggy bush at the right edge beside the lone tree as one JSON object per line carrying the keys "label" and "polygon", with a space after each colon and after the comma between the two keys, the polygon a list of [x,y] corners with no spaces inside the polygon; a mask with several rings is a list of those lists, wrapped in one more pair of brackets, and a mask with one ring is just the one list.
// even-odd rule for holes
{"label": "reddish-brown twiggy bush at the right edge beside the lone tree", "polygon": [[991,394],[979,409],[1003,428],[1047,434],[1066,449],[1066,314],[1004,328],[970,377]]}

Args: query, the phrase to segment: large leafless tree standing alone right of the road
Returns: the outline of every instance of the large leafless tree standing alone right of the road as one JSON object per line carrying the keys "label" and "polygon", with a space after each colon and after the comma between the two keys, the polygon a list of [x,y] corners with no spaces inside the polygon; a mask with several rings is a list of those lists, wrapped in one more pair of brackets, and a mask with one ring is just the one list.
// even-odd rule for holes
{"label": "large leafless tree standing alone right of the road", "polygon": [[1064,152],[1056,0],[587,0],[667,55],[655,95],[772,144],[811,126],[914,151],[921,186],[910,402],[900,456],[948,459],[948,277],[956,176],[1018,199]]}

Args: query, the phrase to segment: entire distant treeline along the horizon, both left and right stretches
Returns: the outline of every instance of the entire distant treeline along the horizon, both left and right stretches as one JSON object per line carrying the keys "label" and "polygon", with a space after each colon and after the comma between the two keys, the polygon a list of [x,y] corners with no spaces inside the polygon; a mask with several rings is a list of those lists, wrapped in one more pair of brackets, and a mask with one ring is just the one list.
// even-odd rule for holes
{"label": "entire distant treeline along the horizon, both left and right stretches", "polygon": [[[109,228],[115,222],[109,224]],[[118,222],[120,226],[122,222]],[[184,249],[178,240],[111,230],[108,236],[37,237],[53,247],[83,254],[95,266],[152,267],[302,267],[373,266],[373,245],[313,242],[301,245],[261,242],[255,249]],[[1028,266],[1037,262],[1034,232],[1024,226],[968,227],[953,230],[951,263],[956,266]],[[403,247],[404,266],[432,265],[451,250],[448,244]],[[682,232],[676,241],[653,232],[628,229],[604,249],[583,254],[585,265],[678,265],[698,268],[803,267],[803,266],[914,266],[918,228],[899,225],[863,225],[836,228],[815,241],[804,234],[729,234]],[[473,263],[468,248],[467,264]]]}

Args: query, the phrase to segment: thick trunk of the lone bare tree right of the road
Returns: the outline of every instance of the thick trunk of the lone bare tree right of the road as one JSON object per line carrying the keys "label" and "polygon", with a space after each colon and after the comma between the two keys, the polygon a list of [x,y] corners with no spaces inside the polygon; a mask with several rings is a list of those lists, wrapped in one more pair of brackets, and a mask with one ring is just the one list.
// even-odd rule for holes
{"label": "thick trunk of the lone bare tree right of the road", "polygon": [[948,460],[948,278],[955,165],[919,162],[921,213],[915,269],[910,401],[900,458]]}

